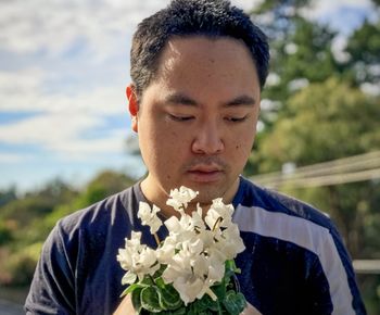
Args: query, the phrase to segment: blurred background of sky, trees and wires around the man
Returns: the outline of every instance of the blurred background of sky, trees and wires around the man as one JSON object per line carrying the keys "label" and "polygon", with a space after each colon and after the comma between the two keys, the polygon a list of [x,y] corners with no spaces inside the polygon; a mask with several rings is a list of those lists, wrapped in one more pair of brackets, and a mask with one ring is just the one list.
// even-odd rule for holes
{"label": "blurred background of sky, trees and wires around the man", "polygon": [[[231,2],[271,47],[244,175],[332,217],[380,314],[380,1]],[[125,101],[130,39],[167,3],[0,1],[1,314],[23,314],[60,217],[143,176]]]}

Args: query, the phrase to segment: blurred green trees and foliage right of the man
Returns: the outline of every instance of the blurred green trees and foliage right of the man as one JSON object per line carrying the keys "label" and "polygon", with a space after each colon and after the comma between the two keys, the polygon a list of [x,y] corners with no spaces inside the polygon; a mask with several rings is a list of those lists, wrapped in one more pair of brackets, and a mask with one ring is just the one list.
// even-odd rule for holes
{"label": "blurred green trees and foliage right of the man", "polygon": [[[380,2],[372,0],[377,18],[349,35],[340,54],[332,49],[339,34],[302,15],[315,2],[266,0],[253,12],[269,37],[271,61],[245,175],[380,149]],[[354,259],[380,259],[379,180],[280,190],[327,212]],[[380,314],[380,278],[359,277],[359,285],[368,314]]]}

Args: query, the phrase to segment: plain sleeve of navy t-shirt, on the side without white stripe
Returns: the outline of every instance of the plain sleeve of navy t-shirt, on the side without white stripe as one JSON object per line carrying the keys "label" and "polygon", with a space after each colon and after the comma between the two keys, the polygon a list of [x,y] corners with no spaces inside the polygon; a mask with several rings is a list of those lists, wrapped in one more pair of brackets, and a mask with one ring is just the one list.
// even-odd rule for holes
{"label": "plain sleeve of navy t-shirt, on the side without white stripe", "polygon": [[75,277],[58,224],[42,247],[25,302],[26,314],[75,314]]}

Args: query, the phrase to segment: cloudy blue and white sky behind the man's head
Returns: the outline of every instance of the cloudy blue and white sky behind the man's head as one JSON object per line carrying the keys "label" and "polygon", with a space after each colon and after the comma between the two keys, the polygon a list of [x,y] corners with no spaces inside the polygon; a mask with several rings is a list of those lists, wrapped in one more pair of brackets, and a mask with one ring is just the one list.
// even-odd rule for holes
{"label": "cloudy blue and white sky behind the man's head", "polygon": [[[244,10],[258,0],[233,0]],[[138,22],[168,0],[0,1],[0,190],[61,178],[80,187],[103,169],[144,174],[125,99]],[[342,34],[370,1],[317,0],[311,18]]]}

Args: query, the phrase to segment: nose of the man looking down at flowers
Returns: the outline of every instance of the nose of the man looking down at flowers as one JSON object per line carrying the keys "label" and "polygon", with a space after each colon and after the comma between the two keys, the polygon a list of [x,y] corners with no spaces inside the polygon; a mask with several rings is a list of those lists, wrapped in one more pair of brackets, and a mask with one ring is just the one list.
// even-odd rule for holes
{"label": "nose of the man looking down at flowers", "polygon": [[197,154],[219,154],[225,143],[221,131],[215,122],[204,122],[197,128],[192,151]]}

